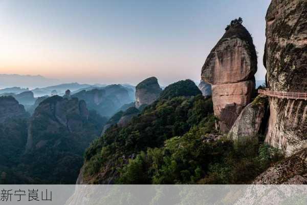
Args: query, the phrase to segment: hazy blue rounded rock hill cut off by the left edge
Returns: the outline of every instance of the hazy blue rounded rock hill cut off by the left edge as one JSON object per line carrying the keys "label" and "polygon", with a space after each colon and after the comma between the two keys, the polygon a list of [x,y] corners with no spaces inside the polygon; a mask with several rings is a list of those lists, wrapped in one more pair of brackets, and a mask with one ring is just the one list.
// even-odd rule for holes
{"label": "hazy blue rounded rock hill cut off by the left edge", "polygon": [[0,97],[0,123],[8,118],[26,117],[27,113],[23,105],[12,96]]}

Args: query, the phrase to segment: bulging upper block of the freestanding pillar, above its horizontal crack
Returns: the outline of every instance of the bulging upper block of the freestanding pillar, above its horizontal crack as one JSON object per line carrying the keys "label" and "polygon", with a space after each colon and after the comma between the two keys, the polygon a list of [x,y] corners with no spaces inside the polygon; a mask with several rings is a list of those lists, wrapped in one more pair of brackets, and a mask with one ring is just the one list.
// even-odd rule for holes
{"label": "bulging upper block of the freestanding pillar, above its horizontal crack", "polygon": [[202,68],[202,79],[209,84],[238,83],[257,72],[257,54],[253,39],[240,23],[229,25],[211,50]]}

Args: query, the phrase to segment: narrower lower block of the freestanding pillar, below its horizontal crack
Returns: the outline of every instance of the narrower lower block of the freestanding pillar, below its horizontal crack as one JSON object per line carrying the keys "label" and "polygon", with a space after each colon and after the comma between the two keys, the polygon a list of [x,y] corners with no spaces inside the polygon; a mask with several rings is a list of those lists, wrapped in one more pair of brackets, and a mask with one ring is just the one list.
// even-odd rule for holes
{"label": "narrower lower block of the freestanding pillar, below its horizontal crack", "polygon": [[213,110],[221,120],[222,131],[230,130],[243,108],[250,103],[254,89],[253,80],[212,86]]}

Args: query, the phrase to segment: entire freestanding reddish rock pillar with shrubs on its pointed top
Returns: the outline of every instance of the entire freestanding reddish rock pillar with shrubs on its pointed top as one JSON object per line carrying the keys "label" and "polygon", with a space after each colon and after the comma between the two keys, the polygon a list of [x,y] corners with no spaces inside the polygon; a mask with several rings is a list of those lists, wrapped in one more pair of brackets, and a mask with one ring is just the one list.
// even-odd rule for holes
{"label": "entire freestanding reddish rock pillar with shrubs on its pointed top", "polygon": [[214,114],[228,132],[255,90],[257,55],[253,39],[242,22],[232,23],[208,55],[202,80],[212,85]]}

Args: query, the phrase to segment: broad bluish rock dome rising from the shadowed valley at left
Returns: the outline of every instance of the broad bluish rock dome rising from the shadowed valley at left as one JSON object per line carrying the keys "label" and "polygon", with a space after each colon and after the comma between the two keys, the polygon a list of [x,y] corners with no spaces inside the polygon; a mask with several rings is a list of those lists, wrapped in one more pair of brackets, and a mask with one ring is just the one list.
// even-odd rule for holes
{"label": "broad bluish rock dome rising from the shadowed valley at left", "polygon": [[67,99],[56,95],[43,100],[30,120],[27,152],[47,146],[48,142],[61,138],[63,133],[81,131],[83,120],[88,117],[85,102],[78,98]]}

